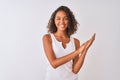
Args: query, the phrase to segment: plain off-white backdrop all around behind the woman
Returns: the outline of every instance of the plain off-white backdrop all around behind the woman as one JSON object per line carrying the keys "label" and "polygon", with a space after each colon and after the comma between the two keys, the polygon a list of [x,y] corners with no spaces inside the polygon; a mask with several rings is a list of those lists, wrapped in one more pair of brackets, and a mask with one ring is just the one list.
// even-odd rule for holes
{"label": "plain off-white backdrop all around behind the woman", "polygon": [[61,5],[80,23],[81,43],[96,33],[79,80],[120,80],[119,0],[0,0],[0,80],[44,80],[42,36]]}

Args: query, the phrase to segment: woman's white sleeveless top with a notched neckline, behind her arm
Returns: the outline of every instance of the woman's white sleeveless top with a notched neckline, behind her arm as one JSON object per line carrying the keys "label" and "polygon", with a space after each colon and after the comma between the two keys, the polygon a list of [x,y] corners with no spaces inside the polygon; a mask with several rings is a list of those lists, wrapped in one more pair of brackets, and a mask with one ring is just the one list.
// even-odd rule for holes
{"label": "woman's white sleeveless top with a notched neckline, behind her arm", "polygon": [[[53,34],[50,35],[52,47],[57,58],[65,56],[75,50],[74,38],[70,37],[70,42],[66,44],[66,48],[63,48],[62,42],[57,41]],[[73,61],[71,60],[54,69],[48,62],[45,80],[76,80],[77,74],[72,72],[72,64]]]}

